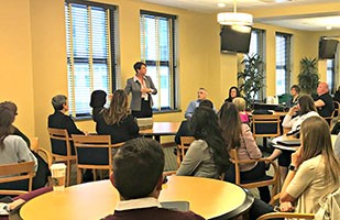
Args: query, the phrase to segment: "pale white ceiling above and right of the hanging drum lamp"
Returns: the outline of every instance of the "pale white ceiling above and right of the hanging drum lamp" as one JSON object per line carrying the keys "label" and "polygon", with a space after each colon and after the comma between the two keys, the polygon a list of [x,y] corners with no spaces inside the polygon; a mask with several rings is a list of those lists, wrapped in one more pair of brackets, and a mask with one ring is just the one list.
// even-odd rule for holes
{"label": "pale white ceiling above and right of the hanging drum lamp", "polygon": [[[169,6],[191,11],[217,13],[221,11],[232,11],[233,0],[142,0],[144,2]],[[238,11],[271,9],[288,6],[307,6],[311,3],[331,3],[340,0],[237,0]],[[224,3],[226,7],[220,8],[218,3]],[[304,18],[279,18],[279,19],[260,19],[255,22],[274,24],[296,30],[305,31],[326,31],[326,26],[332,30],[340,30],[340,9],[338,14],[311,14]]]}

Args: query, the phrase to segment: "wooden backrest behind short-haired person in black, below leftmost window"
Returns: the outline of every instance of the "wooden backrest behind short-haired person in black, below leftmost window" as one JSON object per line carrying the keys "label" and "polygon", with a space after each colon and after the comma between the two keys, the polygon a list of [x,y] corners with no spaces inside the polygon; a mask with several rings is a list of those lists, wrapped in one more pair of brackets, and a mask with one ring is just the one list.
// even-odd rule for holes
{"label": "wooden backrest behind short-haired person in black, below leftmost window", "polygon": [[66,129],[48,128],[52,154],[70,156],[75,155],[75,148]]}

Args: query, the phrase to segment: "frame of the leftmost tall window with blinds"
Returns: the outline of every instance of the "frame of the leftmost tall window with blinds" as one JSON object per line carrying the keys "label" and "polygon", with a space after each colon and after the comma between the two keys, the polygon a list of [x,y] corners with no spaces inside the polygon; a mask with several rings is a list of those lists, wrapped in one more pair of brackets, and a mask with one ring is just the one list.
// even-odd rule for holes
{"label": "frame of the leftmost tall window with blinds", "polygon": [[[75,119],[77,120],[81,120],[81,119],[89,119],[91,118],[91,108],[89,108],[89,112],[86,112],[86,113],[77,113],[77,107],[76,107],[76,100],[75,100],[75,86],[70,86],[69,84],[74,84],[74,80],[75,80],[75,70],[70,70],[68,69],[68,66],[70,66],[70,68],[73,68],[72,66],[75,65],[75,64],[88,64],[89,66],[89,75],[90,76],[94,76],[94,69],[90,69],[92,68],[92,64],[94,63],[105,63],[107,65],[107,70],[108,70],[108,75],[107,77],[109,78],[109,80],[107,81],[108,82],[108,90],[107,92],[108,94],[111,94],[113,90],[117,89],[117,73],[118,73],[118,64],[117,64],[117,7],[116,6],[112,6],[112,4],[107,4],[107,3],[99,3],[99,2],[92,2],[92,1],[83,1],[83,0],[65,0],[64,1],[64,7],[65,7],[65,10],[66,10],[66,7],[67,7],[67,10],[68,10],[68,15],[69,18],[72,18],[70,15],[70,10],[72,10],[72,6],[68,6],[68,4],[81,4],[84,7],[87,8],[87,10],[89,10],[89,7],[95,7],[95,8],[101,8],[101,9],[105,9],[106,13],[107,13],[107,35],[106,37],[108,38],[108,48],[107,48],[107,55],[108,57],[107,58],[94,58],[92,57],[92,54],[90,53],[90,51],[92,51],[91,47],[91,43],[89,42],[88,44],[88,51],[89,51],[89,55],[87,58],[79,58],[79,57],[74,57],[74,50],[73,50],[73,46],[70,45],[70,48],[69,48],[69,53],[70,53],[70,56],[68,56],[68,54],[66,53],[66,65],[67,65],[67,87],[68,87],[68,102],[70,103],[72,102],[72,109],[69,109],[69,114],[72,117],[74,117]],[[65,14],[66,16],[67,14]],[[74,26],[72,24],[70,21],[68,21],[69,24],[67,24],[67,20],[65,20],[65,29],[67,29],[69,26],[69,29],[72,30]],[[88,29],[90,29],[90,23],[87,22],[88,24]],[[69,36],[67,36],[67,32],[66,32],[66,40],[67,37],[69,37],[69,41],[72,42],[72,35],[73,35],[73,32],[69,31],[68,32]],[[90,37],[89,37],[90,38]],[[89,41],[89,40],[88,40]],[[67,45],[66,45],[67,46]],[[66,48],[67,51],[67,48]],[[73,61],[72,61],[73,59]],[[106,59],[106,61],[101,61],[101,59]],[[72,76],[69,76],[72,75]],[[72,79],[70,79],[72,77]],[[94,77],[91,79],[89,79],[89,84],[90,84],[90,91],[94,91],[95,88],[94,88]],[[69,88],[72,87],[73,91],[69,90]],[[84,88],[88,88],[88,87],[84,87]],[[72,95],[72,96],[70,96]]]}

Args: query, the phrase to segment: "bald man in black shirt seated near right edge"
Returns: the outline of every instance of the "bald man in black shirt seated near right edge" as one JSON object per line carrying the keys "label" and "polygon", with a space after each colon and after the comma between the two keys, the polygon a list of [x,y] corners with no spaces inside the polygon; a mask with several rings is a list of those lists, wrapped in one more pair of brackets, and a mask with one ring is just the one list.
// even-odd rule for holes
{"label": "bald man in black shirt seated near right edge", "polygon": [[318,98],[315,101],[315,106],[318,109],[320,117],[330,117],[333,111],[333,100],[328,92],[328,85],[326,82],[319,82],[317,88]]}

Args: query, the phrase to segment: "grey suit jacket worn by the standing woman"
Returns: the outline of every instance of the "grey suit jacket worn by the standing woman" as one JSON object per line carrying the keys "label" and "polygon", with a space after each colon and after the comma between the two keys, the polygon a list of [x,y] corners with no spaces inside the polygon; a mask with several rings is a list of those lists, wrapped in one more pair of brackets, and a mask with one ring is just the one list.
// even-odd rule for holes
{"label": "grey suit jacket worn by the standing woman", "polygon": [[[156,87],[153,85],[152,79],[150,76],[145,76],[144,77],[145,84],[147,88],[151,88],[153,90],[152,95],[156,95],[157,94],[157,89]],[[141,96],[142,96],[142,91],[141,91],[141,84],[138,80],[134,80],[134,77],[129,78],[127,80],[127,86],[124,88],[125,94],[129,96],[130,92],[132,92],[132,99],[131,99],[131,110],[132,111],[141,111]],[[150,97],[150,108],[152,108],[153,106],[153,100],[152,100],[152,96]]]}

